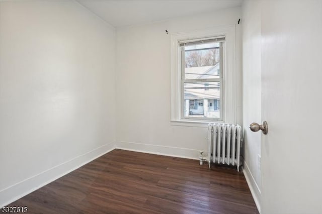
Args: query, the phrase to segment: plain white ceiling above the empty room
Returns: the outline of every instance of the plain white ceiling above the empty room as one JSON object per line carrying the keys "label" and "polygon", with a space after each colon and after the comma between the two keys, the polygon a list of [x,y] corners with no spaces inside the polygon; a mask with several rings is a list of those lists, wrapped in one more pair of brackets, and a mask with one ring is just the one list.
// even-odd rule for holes
{"label": "plain white ceiling above the empty room", "polygon": [[145,24],[238,7],[243,0],[78,0],[114,27]]}

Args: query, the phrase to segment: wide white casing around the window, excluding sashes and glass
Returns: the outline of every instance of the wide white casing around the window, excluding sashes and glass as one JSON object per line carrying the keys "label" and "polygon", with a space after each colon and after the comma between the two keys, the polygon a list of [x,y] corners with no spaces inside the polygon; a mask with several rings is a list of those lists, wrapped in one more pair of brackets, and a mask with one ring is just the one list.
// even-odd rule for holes
{"label": "wide white casing around the window, excluding sashes and glass", "polygon": [[[219,120],[209,118],[187,118],[183,114],[182,71],[179,41],[225,36],[223,52],[222,102],[223,114]],[[236,66],[235,66],[235,26],[222,26],[193,32],[171,34],[171,121],[172,125],[196,126],[209,122],[236,123]],[[221,114],[221,113],[220,113]],[[189,125],[190,124],[190,125]]]}

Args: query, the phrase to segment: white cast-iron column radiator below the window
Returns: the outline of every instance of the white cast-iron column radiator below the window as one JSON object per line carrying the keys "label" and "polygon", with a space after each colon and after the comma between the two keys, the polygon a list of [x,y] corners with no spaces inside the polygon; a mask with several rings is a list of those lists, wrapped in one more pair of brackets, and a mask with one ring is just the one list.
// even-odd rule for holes
{"label": "white cast-iron column radiator below the window", "polygon": [[239,172],[241,127],[239,125],[208,125],[208,167],[210,163],[237,166]]}

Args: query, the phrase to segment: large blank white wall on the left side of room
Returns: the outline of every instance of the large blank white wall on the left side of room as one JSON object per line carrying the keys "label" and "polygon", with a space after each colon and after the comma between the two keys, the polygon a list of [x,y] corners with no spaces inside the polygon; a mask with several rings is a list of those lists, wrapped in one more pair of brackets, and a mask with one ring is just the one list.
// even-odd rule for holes
{"label": "large blank white wall on the left side of room", "polygon": [[77,3],[0,2],[0,206],[113,148],[114,64]]}

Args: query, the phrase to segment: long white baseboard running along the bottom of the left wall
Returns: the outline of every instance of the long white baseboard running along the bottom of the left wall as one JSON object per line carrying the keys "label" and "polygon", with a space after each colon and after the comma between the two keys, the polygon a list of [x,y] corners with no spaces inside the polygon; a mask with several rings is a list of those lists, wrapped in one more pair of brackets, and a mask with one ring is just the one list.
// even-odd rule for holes
{"label": "long white baseboard running along the bottom of the left wall", "polygon": [[115,142],[105,144],[83,155],[59,164],[51,169],[27,178],[17,184],[0,190],[0,207],[8,205],[19,198],[47,185],[69,172],[91,162],[92,160],[115,149]]}

